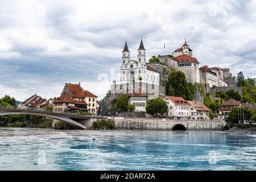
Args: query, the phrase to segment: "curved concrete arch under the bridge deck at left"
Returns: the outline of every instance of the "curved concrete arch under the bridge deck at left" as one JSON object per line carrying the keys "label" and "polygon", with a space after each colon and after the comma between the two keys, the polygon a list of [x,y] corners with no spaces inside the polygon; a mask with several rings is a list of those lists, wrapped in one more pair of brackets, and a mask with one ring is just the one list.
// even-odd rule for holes
{"label": "curved concrete arch under the bridge deck at left", "polygon": [[2,116],[2,115],[14,115],[14,114],[39,115],[39,116],[42,116],[42,117],[47,117],[47,118],[63,121],[65,123],[68,123],[69,125],[79,127],[80,129],[87,129],[85,126],[81,125],[79,122],[76,122],[72,119],[59,117],[57,115],[52,115],[52,114],[47,114],[47,113],[32,113],[32,112],[24,112],[24,111],[22,111],[22,112],[20,112],[20,111],[16,111],[16,112],[11,111],[11,112],[0,113],[0,116]]}

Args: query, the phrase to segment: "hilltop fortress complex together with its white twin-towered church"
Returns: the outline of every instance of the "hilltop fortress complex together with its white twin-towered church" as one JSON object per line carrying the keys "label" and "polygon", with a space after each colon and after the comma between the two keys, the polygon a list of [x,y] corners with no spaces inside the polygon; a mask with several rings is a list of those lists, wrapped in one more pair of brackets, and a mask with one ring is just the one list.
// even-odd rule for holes
{"label": "hilltop fortress complex together with its white twin-towered church", "polygon": [[160,63],[146,63],[146,49],[142,39],[137,51],[137,60],[131,60],[125,42],[119,80],[113,80],[110,93],[128,94],[130,104],[135,105],[138,111],[146,111],[147,100],[159,95],[166,96],[164,80],[172,69],[183,72],[188,82],[203,84],[209,88],[227,87],[232,78],[229,68],[209,68],[207,65],[200,67],[200,62],[193,57],[192,49],[186,39],[183,46],[177,48],[171,55],[159,55]]}

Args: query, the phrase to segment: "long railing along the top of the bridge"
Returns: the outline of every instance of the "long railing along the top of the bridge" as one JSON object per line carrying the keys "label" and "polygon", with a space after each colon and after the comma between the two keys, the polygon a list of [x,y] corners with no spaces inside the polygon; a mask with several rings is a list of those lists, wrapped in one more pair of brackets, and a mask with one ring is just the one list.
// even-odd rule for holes
{"label": "long railing along the top of the bridge", "polygon": [[7,107],[7,106],[0,105],[0,109],[7,109],[7,110],[14,110],[14,111],[30,111],[30,112],[33,112],[33,113],[57,114],[57,115],[67,115],[67,116],[76,115],[76,116],[81,116],[81,117],[93,117],[93,115],[89,115],[89,114],[68,113],[68,112],[57,113],[57,112],[43,110],[43,109],[32,109],[32,108],[29,108],[29,107],[26,107],[24,109],[22,109],[22,108],[18,109],[15,106]]}

